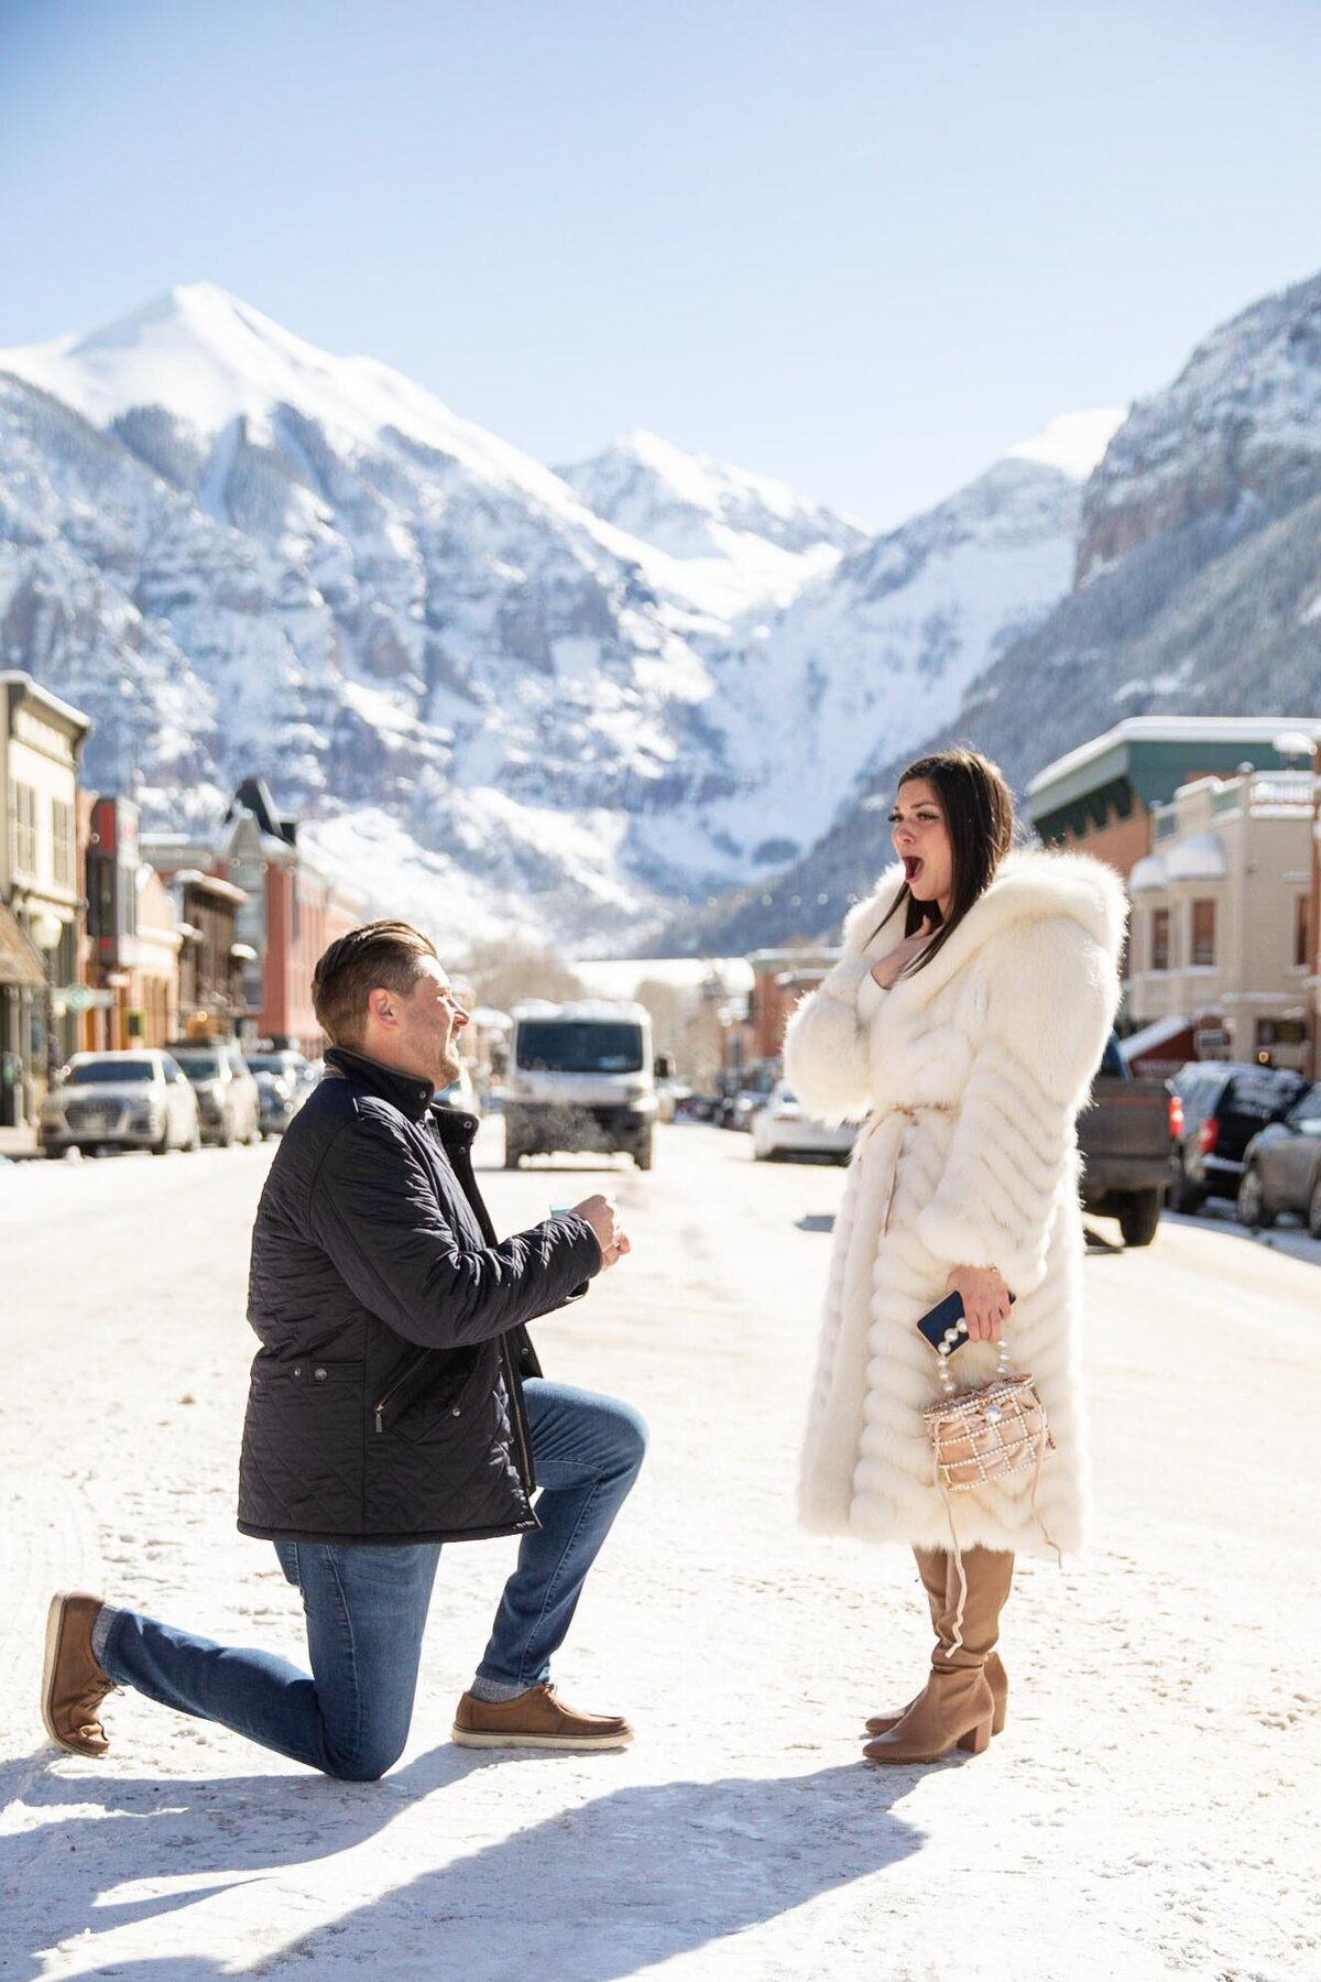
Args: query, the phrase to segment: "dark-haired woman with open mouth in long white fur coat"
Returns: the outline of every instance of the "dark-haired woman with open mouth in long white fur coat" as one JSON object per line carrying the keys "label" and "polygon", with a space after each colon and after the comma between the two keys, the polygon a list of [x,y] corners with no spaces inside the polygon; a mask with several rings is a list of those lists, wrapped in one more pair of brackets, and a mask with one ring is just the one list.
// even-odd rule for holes
{"label": "dark-haired woman with open mouth in long white fur coat", "polygon": [[[1097,860],[1010,852],[1010,793],[972,751],[911,765],[891,828],[903,866],[850,914],[784,1064],[812,1114],[867,1116],[836,1219],[800,1510],[917,1556],[931,1675],[901,1714],[867,1722],[864,1756],[921,1762],[980,1752],[1004,1726],[994,1645],[1014,1554],[1083,1538],[1075,1116],[1115,1015],[1125,894]],[[1032,1469],[953,1498],[935,1483],[923,1409],[941,1362],[915,1324],[947,1292],[966,1320],[959,1387],[994,1377],[1002,1334],[1036,1377],[1054,1437],[1036,1492]]]}

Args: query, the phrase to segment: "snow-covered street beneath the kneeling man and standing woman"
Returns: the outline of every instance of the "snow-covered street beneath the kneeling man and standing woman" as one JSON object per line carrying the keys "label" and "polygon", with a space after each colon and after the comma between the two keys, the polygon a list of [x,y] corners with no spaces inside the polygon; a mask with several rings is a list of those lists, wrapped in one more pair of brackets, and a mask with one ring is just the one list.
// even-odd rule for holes
{"label": "snow-covered street beneath the kneeling man and standing woman", "polygon": [[[586,1161],[499,1156],[493,1122],[501,1231],[600,1187]],[[131,1695],[105,1762],[59,1756],[36,1705],[57,1586],[303,1657],[295,1594],[234,1528],[267,1161],[0,1169],[4,1978],[1319,1972],[1317,1249],[1169,1219],[1151,1251],[1089,1255],[1093,1552],[1020,1570],[988,1754],[869,1770],[865,1714],[929,1653],[911,1558],[792,1514],[844,1173],[703,1126],[614,1171],[634,1257],[537,1328],[551,1374],[652,1423],[557,1669],[574,1705],[630,1714],[634,1748],[450,1744],[513,1550],[469,1544],[442,1560],[382,1782]]]}

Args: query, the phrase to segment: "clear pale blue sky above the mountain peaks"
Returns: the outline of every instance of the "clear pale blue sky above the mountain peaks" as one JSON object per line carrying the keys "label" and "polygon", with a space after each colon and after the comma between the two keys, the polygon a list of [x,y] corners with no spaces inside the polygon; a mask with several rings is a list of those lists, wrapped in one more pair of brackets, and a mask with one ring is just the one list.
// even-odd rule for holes
{"label": "clear pale blue sky above the mountain peaks", "polygon": [[0,345],[212,279],[873,525],[1321,268],[1311,0],[0,0]]}

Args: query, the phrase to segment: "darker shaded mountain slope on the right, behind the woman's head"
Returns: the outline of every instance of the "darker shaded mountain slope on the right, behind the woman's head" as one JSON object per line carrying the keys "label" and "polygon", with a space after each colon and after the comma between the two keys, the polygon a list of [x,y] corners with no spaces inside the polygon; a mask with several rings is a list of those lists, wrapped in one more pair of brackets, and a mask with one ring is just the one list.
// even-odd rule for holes
{"label": "darker shaded mountain slope on the right, behind the woman's head", "polygon": [[1270,710],[1321,716],[1321,277],[1242,311],[1133,408],[1081,494],[1067,597],[864,775],[804,858],[671,941],[838,928],[889,858],[893,779],[919,749],[972,741],[1022,791],[1125,716]]}

